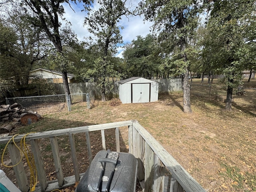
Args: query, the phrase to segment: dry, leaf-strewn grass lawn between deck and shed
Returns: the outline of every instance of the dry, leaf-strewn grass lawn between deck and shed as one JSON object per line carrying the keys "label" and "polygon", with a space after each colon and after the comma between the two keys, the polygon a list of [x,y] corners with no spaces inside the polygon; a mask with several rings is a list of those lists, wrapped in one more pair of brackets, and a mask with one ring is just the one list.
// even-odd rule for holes
{"label": "dry, leaf-strewn grass lawn between deck and shed", "polygon": [[[74,104],[71,112],[66,107],[51,114],[47,109],[38,111],[42,120],[20,126],[13,134],[138,120],[207,191],[256,191],[256,114],[236,107],[225,111],[223,102],[197,96],[191,97],[191,106],[192,114],[182,112],[182,94],[161,95],[159,102],[144,104],[95,101],[90,110],[81,102]],[[102,149],[99,134],[90,133],[94,154]],[[127,151],[127,130],[121,128],[120,134],[121,150]],[[106,147],[114,150],[114,131],[105,136]],[[58,138],[58,144],[64,174],[72,175],[69,144],[65,138]],[[76,136],[76,144],[83,172],[88,167],[85,136]],[[42,140],[41,146],[48,180],[54,179],[50,142]],[[12,170],[1,168],[12,177]]]}

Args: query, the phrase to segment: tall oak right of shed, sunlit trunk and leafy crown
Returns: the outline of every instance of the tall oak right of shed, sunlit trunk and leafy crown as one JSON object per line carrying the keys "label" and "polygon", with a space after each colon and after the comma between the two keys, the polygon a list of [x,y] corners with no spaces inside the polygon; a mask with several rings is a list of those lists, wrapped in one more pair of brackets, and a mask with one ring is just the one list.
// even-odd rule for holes
{"label": "tall oak right of shed, sunlit trunk and leafy crown", "polygon": [[198,25],[199,1],[146,0],[140,8],[146,20],[154,22],[154,30],[166,53],[166,65],[172,65],[182,77],[183,110],[191,113],[190,84],[188,80],[188,39]]}

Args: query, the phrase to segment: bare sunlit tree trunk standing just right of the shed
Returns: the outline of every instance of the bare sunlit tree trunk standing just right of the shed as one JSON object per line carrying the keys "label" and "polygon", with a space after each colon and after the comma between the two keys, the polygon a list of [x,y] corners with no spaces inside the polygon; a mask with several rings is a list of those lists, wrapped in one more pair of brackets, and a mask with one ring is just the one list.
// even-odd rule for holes
{"label": "bare sunlit tree trunk standing just right of the shed", "polygon": [[182,89],[183,89],[183,111],[184,113],[192,113],[190,106],[190,84],[188,83],[188,68],[186,73],[182,75]]}

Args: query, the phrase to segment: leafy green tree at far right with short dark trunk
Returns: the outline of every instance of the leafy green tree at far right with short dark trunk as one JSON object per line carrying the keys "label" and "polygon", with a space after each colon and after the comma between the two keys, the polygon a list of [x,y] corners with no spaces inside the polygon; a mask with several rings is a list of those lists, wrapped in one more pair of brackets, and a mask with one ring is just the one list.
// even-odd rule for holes
{"label": "leafy green tree at far right with short dark trunk", "polygon": [[206,28],[208,37],[206,54],[217,73],[222,73],[226,85],[226,110],[231,110],[232,92],[241,84],[242,71],[255,63],[256,3],[246,0],[214,1],[209,4],[210,18]]}

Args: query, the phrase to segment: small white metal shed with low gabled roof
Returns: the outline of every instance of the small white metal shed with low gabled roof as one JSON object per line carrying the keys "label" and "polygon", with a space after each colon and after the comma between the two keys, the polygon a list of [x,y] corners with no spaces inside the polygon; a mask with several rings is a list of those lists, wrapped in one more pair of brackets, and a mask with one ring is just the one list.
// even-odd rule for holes
{"label": "small white metal shed with low gabled roof", "polygon": [[158,101],[158,82],[132,77],[119,82],[119,98],[123,104]]}

